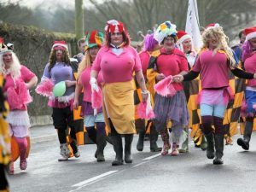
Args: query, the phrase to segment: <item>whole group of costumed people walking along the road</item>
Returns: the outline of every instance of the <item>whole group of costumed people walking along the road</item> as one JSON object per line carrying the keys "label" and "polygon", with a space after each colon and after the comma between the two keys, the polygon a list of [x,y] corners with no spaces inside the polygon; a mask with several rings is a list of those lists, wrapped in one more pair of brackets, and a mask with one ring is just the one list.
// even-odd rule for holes
{"label": "whole group of costumed people walking along the road", "polygon": [[[105,160],[103,151],[108,142],[113,144],[116,154],[113,166],[122,165],[124,161],[132,163],[131,143],[137,132],[134,81],[140,87],[140,102],[146,103],[141,113],[148,114],[151,107],[154,112],[154,118],[144,119],[143,129],[138,131],[137,150],[143,150],[145,127],[149,127],[151,151],[161,150],[162,155],[169,154],[171,148],[171,155],[188,152],[191,110],[188,108],[189,84],[183,81],[200,75],[201,92],[197,100],[201,109],[201,130],[207,138],[204,149],[207,148],[207,158],[214,159],[213,164],[223,164],[224,113],[233,96],[229,85],[230,72],[241,79],[249,79],[245,90],[245,132],[244,137],[237,140],[247,150],[256,102],[256,27],[243,32],[246,41],[236,47],[235,52],[228,46],[228,38],[218,24],[207,26],[202,32],[202,48],[195,50],[189,34],[177,31],[170,21],[160,24],[154,33],[144,38],[144,48],[140,53],[131,47],[129,33],[118,20],[108,20],[105,38],[96,30],[88,33],[84,40],[79,41],[82,54],[73,58],[69,57],[65,41],[55,41],[36,91],[49,97],[48,105],[52,108],[53,125],[60,143],[59,161],[71,156],[79,158],[77,132],[84,130],[85,126],[91,141],[96,143],[97,161]],[[27,166],[30,124],[26,105],[32,102],[29,90],[37,84],[38,78],[20,65],[13,50],[3,44],[3,39],[0,49],[1,78],[5,79],[0,89],[0,120],[4,122],[6,117],[8,123],[1,125],[1,141],[6,143],[0,143],[0,163],[1,170],[2,165],[8,163],[10,140],[6,137],[6,130],[9,127],[9,135],[18,144],[18,155],[10,156],[9,173],[13,174],[13,163],[19,156],[20,169],[25,170]],[[237,67],[239,60],[244,70]],[[3,83],[2,79],[0,83]],[[159,89],[156,89],[157,85]],[[5,98],[9,104],[8,114]],[[82,119],[76,119],[75,112]],[[156,144],[159,133],[163,148]],[[122,137],[125,138],[124,147]],[[1,171],[1,177],[2,174]]]}

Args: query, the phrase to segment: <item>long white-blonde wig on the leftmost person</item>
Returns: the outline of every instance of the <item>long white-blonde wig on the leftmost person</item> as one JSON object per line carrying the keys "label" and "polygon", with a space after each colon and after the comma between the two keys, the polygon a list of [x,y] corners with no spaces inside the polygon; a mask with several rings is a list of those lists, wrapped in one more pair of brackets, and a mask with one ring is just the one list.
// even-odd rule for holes
{"label": "long white-blonde wig on the leftmost person", "polygon": [[0,73],[3,73],[4,76],[7,74],[11,74],[11,77],[13,79],[18,79],[20,77],[20,68],[21,68],[20,61],[14,52],[7,51],[6,53],[12,54],[13,62],[11,63],[9,69],[5,69],[5,64],[3,62],[3,55],[5,53],[0,54]]}

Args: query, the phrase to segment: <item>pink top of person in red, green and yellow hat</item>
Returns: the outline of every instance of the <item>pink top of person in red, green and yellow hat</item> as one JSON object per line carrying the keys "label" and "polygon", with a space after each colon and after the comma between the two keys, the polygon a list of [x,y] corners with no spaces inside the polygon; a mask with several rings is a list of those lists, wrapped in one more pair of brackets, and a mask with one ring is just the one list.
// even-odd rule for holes
{"label": "pink top of person in red, green and yellow hat", "polygon": [[[91,102],[90,72],[91,67],[87,67],[84,69],[84,71],[80,74],[79,77],[79,84],[83,85],[84,87],[83,101],[85,102]],[[97,84],[101,86],[102,82],[102,72],[100,72],[98,75]]]}

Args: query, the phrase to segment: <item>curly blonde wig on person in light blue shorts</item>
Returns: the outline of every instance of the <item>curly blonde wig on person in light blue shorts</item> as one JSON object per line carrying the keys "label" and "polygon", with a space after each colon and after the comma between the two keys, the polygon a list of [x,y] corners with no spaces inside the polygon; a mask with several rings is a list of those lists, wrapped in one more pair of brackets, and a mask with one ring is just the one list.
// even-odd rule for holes
{"label": "curly blonde wig on person in light blue shorts", "polygon": [[236,61],[234,59],[232,49],[230,49],[228,45],[229,38],[224,34],[223,28],[221,26],[210,27],[207,28],[205,32],[203,32],[203,48],[209,48],[208,42],[212,40],[212,38],[216,38],[218,40],[218,46],[213,49],[213,55],[215,55],[218,50],[223,50],[226,53],[228,60],[230,61],[230,66],[235,67]]}

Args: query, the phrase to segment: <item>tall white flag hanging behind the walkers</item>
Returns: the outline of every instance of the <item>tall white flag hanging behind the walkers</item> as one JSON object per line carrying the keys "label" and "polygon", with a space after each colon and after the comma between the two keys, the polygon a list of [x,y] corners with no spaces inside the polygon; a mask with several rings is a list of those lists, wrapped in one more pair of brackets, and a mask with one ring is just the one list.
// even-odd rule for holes
{"label": "tall white flag hanging behind the walkers", "polygon": [[189,0],[185,31],[192,37],[192,44],[197,51],[201,49],[202,44],[199,26],[197,2],[196,0]]}

